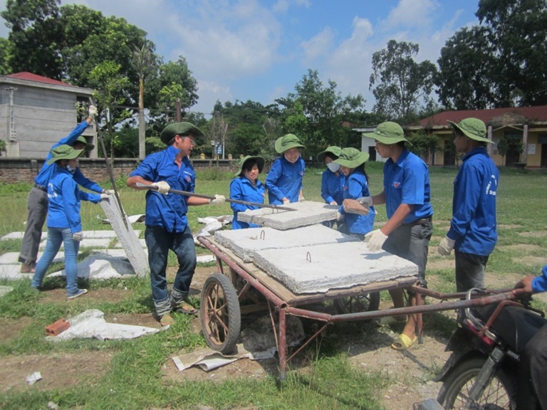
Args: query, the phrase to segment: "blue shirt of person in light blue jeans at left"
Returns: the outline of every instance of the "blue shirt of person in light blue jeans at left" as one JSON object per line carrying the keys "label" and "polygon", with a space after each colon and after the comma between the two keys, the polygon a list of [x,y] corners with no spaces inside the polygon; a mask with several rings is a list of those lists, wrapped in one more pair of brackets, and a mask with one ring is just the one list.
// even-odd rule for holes
{"label": "blue shirt of person in light blue jeans at left", "polygon": [[80,191],[70,172],[53,165],[54,172],[48,182],[48,228],[70,228],[72,233],[80,232],[80,200],[97,204],[100,195]]}

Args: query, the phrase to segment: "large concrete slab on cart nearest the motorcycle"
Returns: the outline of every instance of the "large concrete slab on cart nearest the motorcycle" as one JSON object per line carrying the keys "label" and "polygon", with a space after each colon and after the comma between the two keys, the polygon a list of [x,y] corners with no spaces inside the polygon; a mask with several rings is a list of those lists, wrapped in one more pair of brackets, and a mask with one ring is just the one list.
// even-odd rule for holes
{"label": "large concrete slab on cart nearest the motorcycle", "polygon": [[254,265],[293,293],[325,292],[418,273],[415,263],[387,252],[370,253],[362,241],[264,249],[254,253]]}

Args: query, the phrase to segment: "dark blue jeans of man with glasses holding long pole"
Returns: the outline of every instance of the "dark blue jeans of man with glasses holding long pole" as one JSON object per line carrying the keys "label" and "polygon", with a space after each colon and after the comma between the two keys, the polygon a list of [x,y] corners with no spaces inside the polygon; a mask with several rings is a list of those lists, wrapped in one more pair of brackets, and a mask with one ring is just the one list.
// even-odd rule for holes
{"label": "dark blue jeans of man with glasses holding long pole", "polygon": [[[184,232],[169,232],[162,226],[147,226],[145,241],[150,265],[150,284],[156,315],[162,317],[171,311],[171,304],[188,297],[192,277],[196,270],[196,246],[189,226]],[[179,269],[174,278],[171,299],[167,292],[167,255],[169,250],[177,255]]]}

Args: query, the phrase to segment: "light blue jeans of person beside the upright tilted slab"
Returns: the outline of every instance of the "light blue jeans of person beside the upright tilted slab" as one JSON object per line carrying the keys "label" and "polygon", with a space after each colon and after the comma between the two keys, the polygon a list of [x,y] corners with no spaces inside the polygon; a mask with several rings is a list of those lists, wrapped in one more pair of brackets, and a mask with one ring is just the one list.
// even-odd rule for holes
{"label": "light blue jeans of person beside the upright tilted slab", "polygon": [[61,243],[64,243],[65,246],[66,293],[71,296],[78,292],[77,258],[80,248],[80,242],[73,239],[71,228],[48,228],[46,250],[43,251],[40,261],[36,264],[31,286],[36,289],[42,287],[46,270],[61,248]]}

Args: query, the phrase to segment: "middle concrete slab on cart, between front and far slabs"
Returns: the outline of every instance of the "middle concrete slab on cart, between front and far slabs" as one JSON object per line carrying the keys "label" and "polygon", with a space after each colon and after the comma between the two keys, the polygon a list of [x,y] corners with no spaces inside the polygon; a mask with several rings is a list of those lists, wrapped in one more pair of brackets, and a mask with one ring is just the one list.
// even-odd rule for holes
{"label": "middle concrete slab on cart, between front and far slabs", "polygon": [[268,227],[217,231],[214,233],[214,238],[245,262],[252,262],[255,251],[262,249],[286,249],[359,241],[355,236],[345,235],[321,224],[295,228],[290,231],[278,231]]}

